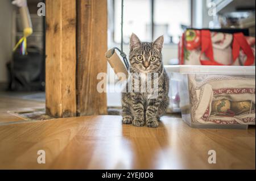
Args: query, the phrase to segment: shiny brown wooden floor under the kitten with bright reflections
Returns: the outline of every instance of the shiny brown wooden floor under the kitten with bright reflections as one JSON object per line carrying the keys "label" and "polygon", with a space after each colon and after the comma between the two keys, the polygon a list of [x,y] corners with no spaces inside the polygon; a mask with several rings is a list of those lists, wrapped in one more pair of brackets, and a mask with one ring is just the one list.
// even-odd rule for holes
{"label": "shiny brown wooden floor under the kitten with bright reflections", "polygon": [[[18,101],[0,102],[2,121]],[[38,150],[46,151],[45,164],[37,163]],[[209,150],[216,164],[208,163]],[[122,125],[121,116],[16,121],[0,125],[0,169],[255,169],[255,127],[195,129],[170,116],[159,128]]]}

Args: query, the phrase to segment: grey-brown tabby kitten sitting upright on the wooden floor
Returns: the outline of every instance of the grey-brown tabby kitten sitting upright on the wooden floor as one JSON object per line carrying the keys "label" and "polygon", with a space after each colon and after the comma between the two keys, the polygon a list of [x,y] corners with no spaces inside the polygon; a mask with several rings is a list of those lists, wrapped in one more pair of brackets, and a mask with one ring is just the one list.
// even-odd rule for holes
{"label": "grey-brown tabby kitten sitting upright on the wooden floor", "polygon": [[[168,89],[169,79],[162,63],[163,36],[155,41],[141,42],[133,33],[130,37],[130,73],[139,76],[131,76],[125,90],[122,92],[122,123],[133,123],[136,127],[142,127],[146,122],[147,127],[158,127],[160,116],[166,112],[169,104]],[[158,94],[152,98],[148,90],[141,91],[145,85],[148,74],[158,75]],[[149,76],[148,76],[149,77]],[[151,75],[152,78],[152,75]],[[128,91],[130,81],[133,91]],[[153,81],[153,79],[151,79]],[[134,86],[139,82],[139,91],[134,91]],[[150,82],[149,82],[150,83]],[[152,83],[152,82],[151,82]]]}

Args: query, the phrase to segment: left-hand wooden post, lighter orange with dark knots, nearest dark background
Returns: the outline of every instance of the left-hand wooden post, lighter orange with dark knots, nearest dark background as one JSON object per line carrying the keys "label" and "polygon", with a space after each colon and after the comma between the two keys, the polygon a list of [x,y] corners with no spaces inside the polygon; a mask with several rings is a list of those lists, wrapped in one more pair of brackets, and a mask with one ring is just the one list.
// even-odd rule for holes
{"label": "left-hand wooden post, lighter orange with dark knots, nearest dark background", "polygon": [[46,113],[76,116],[76,1],[46,1]]}

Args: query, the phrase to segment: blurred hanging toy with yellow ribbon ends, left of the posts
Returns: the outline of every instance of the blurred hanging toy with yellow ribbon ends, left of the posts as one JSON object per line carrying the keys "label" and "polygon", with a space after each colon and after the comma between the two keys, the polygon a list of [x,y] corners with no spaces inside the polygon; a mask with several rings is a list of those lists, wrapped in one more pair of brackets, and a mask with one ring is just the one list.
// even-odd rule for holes
{"label": "blurred hanging toy with yellow ribbon ends, left of the posts", "polygon": [[16,43],[13,52],[20,46],[20,53],[25,55],[27,54],[27,37],[33,33],[30,12],[28,11],[26,0],[15,0],[12,3],[19,7],[19,14],[23,27],[23,37]]}

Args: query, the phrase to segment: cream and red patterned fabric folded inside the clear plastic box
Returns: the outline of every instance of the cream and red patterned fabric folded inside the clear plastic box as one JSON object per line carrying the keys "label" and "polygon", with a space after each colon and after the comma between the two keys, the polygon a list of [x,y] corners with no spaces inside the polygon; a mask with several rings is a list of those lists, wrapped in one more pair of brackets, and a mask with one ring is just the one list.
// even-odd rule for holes
{"label": "cream and red patterned fabric folded inside the clear plastic box", "polygon": [[255,78],[190,74],[188,80],[194,123],[255,124]]}

